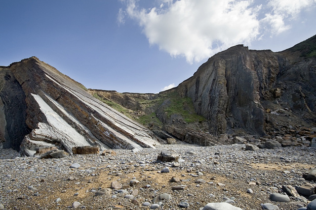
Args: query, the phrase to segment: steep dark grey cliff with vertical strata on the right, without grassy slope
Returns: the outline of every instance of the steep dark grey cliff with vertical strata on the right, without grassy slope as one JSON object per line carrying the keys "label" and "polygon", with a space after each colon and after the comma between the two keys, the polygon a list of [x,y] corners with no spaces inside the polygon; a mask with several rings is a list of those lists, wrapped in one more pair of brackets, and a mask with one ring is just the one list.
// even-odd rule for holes
{"label": "steep dark grey cliff with vertical strata on the right, without grassy slope", "polygon": [[237,130],[265,135],[266,110],[272,107],[308,115],[301,120],[315,125],[316,57],[304,56],[306,46],[315,50],[315,40],[279,53],[237,45],[210,58],[176,90],[192,98],[215,135]]}

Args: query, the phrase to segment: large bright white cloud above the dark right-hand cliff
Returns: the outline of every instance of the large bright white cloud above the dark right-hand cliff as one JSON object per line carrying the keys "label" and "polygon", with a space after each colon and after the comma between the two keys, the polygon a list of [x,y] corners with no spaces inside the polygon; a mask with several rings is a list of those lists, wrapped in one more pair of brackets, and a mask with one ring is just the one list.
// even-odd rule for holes
{"label": "large bright white cloud above the dark right-hand cliff", "polygon": [[190,63],[236,44],[249,45],[264,34],[284,32],[291,28],[288,20],[316,4],[316,0],[269,0],[266,5],[254,0],[158,0],[157,7],[144,9],[139,0],[124,2],[126,8],[119,13],[137,21],[151,45]]}

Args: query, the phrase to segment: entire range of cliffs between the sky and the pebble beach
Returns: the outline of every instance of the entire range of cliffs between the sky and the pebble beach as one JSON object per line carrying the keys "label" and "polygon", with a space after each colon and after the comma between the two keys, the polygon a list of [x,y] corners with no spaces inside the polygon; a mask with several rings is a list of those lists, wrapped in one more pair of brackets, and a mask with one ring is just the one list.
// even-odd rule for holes
{"label": "entire range of cliffs between the sky and the pebble beach", "polygon": [[0,66],[0,142],[25,155],[53,146],[140,150],[158,145],[154,136],[212,146],[232,143],[226,134],[278,135],[297,145],[315,137],[312,127],[316,36],[278,53],[231,47],[158,94],[88,92],[35,57]]}

